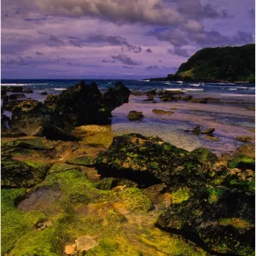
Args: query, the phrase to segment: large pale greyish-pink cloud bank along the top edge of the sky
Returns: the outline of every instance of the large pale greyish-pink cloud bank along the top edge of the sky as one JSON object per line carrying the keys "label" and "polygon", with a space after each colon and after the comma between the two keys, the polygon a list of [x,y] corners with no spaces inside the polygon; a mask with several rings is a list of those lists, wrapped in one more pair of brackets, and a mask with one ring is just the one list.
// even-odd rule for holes
{"label": "large pale greyish-pink cloud bank along the top edge of the sky", "polygon": [[175,25],[183,21],[177,9],[161,0],[25,0],[52,15],[90,16],[116,24]]}

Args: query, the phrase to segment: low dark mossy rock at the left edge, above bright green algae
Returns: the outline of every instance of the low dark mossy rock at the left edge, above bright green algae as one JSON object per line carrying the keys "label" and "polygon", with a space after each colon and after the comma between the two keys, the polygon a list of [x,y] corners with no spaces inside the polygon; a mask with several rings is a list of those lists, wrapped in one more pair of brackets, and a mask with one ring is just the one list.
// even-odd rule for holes
{"label": "low dark mossy rock at the left edge, above bright green algae", "polygon": [[2,157],[1,184],[3,188],[27,188],[43,180],[49,166]]}

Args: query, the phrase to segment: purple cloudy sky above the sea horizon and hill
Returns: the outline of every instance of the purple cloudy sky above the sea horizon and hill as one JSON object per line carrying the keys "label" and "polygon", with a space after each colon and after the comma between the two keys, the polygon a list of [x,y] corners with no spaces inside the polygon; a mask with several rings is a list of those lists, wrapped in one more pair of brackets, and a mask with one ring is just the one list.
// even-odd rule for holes
{"label": "purple cloudy sky above the sea horizon and hill", "polygon": [[147,79],[254,44],[254,0],[2,0],[2,79]]}

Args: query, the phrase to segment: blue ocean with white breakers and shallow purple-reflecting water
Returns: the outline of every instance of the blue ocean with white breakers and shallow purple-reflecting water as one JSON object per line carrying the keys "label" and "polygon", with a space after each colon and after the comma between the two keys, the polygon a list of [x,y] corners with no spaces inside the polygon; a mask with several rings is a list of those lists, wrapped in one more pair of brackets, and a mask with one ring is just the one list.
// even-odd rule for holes
{"label": "blue ocean with white breakers and shallow purple-reflecting water", "polygon": [[[93,80],[84,80],[90,84]],[[182,90],[185,95],[194,98],[212,97],[219,102],[207,104],[192,102],[143,102],[146,96],[130,96],[129,103],[113,110],[112,125],[110,129],[114,135],[137,132],[148,136],[161,137],[168,143],[189,151],[204,147],[220,155],[234,152],[242,143],[235,137],[254,137],[255,129],[255,84],[232,83],[183,83],[183,82],[150,82],[143,80],[94,80],[102,91],[108,90],[118,81],[122,81],[132,91],[145,92],[148,90]],[[67,86],[77,84],[75,79],[3,79],[2,85],[21,85],[33,90],[32,94],[26,94],[26,98],[33,98],[44,102],[46,96],[40,95],[47,91],[48,94],[58,94],[66,90]],[[10,94],[10,93],[9,93]],[[154,108],[170,110],[171,115],[160,115],[152,112]],[[175,109],[175,110],[174,110]],[[131,110],[142,111],[142,121],[131,122],[127,114]],[[5,112],[7,115],[11,113]],[[192,129],[195,125],[201,125],[201,129],[214,127],[214,137],[203,135],[195,136],[184,130]],[[253,141],[253,140],[252,140]]]}

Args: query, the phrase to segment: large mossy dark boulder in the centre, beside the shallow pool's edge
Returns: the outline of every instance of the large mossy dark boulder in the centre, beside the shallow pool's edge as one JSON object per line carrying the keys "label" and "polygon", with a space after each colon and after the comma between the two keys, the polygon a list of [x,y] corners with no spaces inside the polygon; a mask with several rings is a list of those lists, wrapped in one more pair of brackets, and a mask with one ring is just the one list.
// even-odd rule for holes
{"label": "large mossy dark boulder in the centre, beside the shallow pool's edge", "polygon": [[189,152],[139,134],[114,137],[107,151],[96,158],[103,177],[125,177],[140,184],[197,183],[205,170]]}

